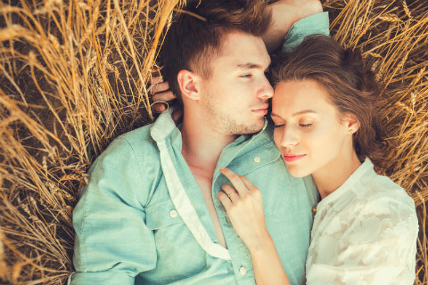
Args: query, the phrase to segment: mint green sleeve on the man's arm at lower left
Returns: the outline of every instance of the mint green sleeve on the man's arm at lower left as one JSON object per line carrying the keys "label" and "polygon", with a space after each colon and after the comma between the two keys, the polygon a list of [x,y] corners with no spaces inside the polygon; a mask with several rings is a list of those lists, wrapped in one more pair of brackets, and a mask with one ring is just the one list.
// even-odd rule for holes
{"label": "mint green sleeve on the man's arm at lower left", "polygon": [[76,272],[69,284],[130,285],[136,274],[155,267],[153,232],[144,223],[144,195],[149,191],[139,169],[123,138],[95,160],[73,211]]}

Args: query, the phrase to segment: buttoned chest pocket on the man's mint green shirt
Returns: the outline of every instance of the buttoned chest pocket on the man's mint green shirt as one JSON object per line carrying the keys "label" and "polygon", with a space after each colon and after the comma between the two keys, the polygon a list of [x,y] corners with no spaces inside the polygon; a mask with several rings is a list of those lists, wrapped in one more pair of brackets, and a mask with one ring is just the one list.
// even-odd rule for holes
{"label": "buttoned chest pocket on the man's mint green shirt", "polygon": [[194,239],[170,199],[146,208],[146,225],[153,231],[157,251],[154,271],[165,281],[192,276],[206,267],[206,253]]}

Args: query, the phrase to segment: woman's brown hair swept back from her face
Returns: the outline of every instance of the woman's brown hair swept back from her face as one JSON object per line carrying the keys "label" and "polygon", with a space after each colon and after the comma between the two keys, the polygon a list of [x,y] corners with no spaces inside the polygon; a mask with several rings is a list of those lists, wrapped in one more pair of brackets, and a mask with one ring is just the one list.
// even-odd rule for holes
{"label": "woman's brown hair swept back from her face", "polygon": [[374,73],[365,66],[361,53],[344,49],[331,37],[310,36],[291,53],[282,53],[273,61],[276,62],[271,68],[274,86],[301,79],[312,79],[324,86],[339,112],[359,121],[358,131],[353,134],[358,159],[368,157],[374,165],[382,165],[384,129],[379,115],[382,101]]}

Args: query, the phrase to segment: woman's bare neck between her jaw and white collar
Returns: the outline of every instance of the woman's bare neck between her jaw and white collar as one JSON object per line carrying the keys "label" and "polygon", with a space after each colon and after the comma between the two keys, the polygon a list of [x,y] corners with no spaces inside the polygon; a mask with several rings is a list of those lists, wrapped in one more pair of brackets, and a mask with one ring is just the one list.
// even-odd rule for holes
{"label": "woman's bare neck between her jaw and white collar", "polygon": [[341,155],[330,161],[325,167],[312,174],[321,199],[325,199],[333,191],[342,186],[350,178],[361,162],[357,153],[353,150],[343,151]]}

